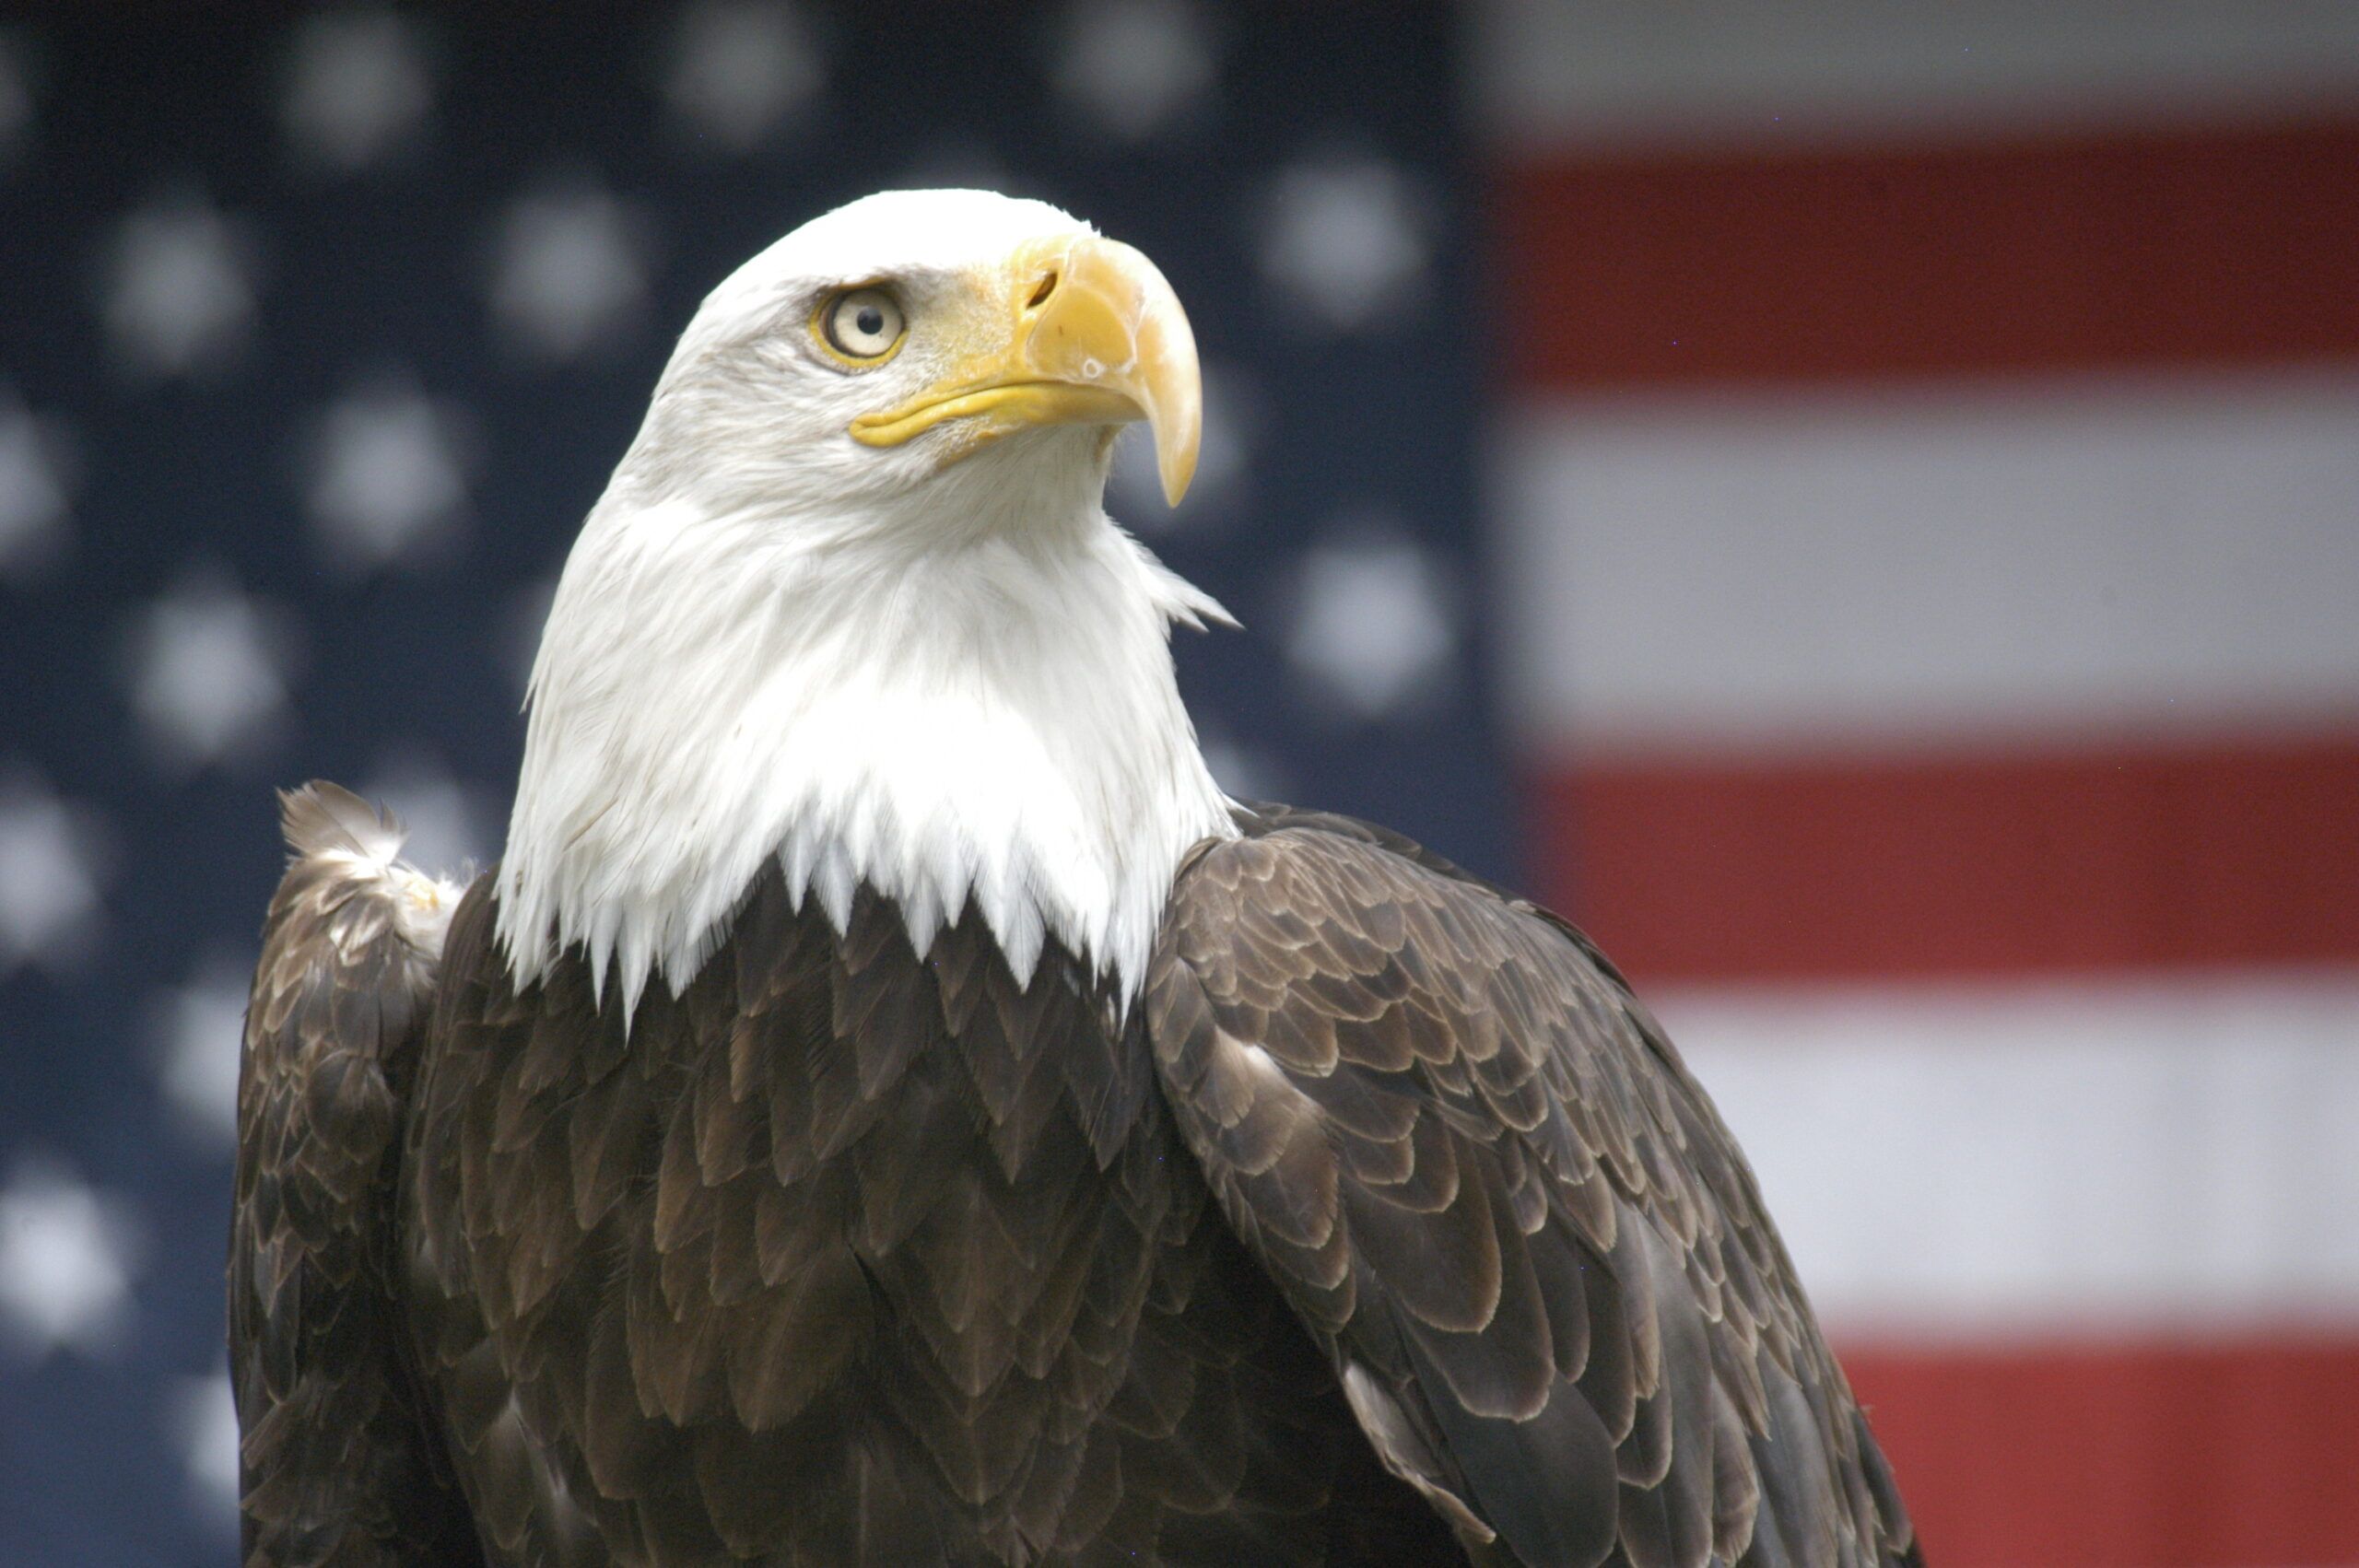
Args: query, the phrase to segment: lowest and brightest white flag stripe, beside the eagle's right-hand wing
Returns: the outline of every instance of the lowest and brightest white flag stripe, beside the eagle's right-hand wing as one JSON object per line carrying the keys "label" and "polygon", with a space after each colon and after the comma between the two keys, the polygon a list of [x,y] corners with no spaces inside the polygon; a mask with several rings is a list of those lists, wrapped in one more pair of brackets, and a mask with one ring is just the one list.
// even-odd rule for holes
{"label": "lowest and brightest white flag stripe, beside the eagle's right-hand wing", "polygon": [[1842,1332],[2359,1325],[2359,974],[1658,1012]]}

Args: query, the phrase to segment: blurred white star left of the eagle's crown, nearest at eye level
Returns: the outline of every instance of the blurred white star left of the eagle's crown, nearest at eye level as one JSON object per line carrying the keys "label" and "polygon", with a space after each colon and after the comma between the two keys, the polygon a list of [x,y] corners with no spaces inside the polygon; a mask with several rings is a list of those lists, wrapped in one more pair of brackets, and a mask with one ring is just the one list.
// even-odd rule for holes
{"label": "blurred white star left of the eagle's crown, nearest at eye level", "polygon": [[616,198],[585,184],[550,184],[510,205],[491,309],[526,349],[578,358],[616,332],[644,295],[632,219]]}

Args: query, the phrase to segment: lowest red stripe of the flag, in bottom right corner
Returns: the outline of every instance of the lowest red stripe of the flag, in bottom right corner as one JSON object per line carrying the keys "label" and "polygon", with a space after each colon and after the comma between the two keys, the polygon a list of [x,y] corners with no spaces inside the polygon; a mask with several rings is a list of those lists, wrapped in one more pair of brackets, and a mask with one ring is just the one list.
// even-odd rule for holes
{"label": "lowest red stripe of the flag, in bottom right corner", "polygon": [[2359,1339],[1842,1365],[1939,1568],[2359,1559]]}

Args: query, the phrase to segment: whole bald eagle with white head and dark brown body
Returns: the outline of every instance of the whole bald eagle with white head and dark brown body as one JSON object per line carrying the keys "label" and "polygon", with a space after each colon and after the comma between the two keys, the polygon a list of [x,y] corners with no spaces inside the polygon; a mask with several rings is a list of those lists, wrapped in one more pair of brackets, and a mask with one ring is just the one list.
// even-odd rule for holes
{"label": "whole bald eagle with white head and dark brown body", "polygon": [[500,865],[285,797],[248,1563],[1918,1561],[1597,948],[1213,783],[1102,509],[1198,396],[1054,207],[819,217],[580,531]]}

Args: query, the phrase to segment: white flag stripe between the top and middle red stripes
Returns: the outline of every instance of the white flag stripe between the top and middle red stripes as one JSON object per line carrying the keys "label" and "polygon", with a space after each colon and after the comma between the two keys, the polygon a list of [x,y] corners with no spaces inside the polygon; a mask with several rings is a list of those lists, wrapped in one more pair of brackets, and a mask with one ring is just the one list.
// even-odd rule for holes
{"label": "white flag stripe between the top and middle red stripes", "polygon": [[2347,375],[1555,403],[1498,474],[1540,745],[2359,712]]}

